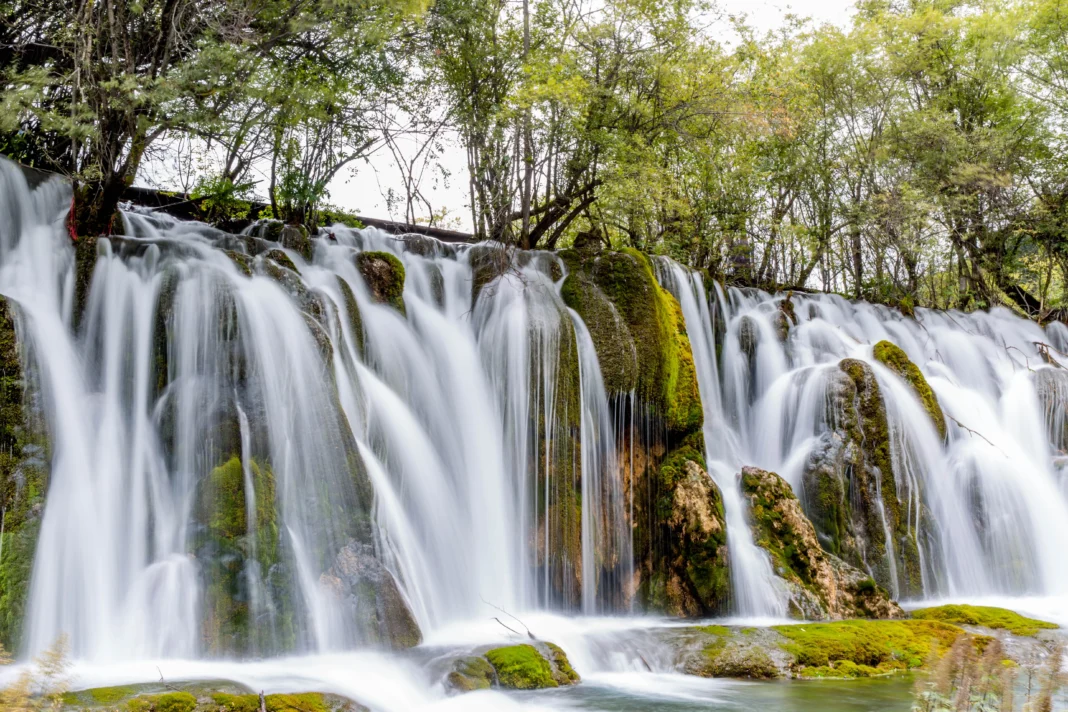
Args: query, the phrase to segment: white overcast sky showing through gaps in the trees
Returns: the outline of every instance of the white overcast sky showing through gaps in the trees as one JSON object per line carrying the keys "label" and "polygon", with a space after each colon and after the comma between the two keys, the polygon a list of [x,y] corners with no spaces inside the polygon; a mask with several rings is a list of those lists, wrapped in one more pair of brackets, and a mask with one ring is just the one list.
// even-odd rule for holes
{"label": "white overcast sky showing through gaps in the trees", "polygon": [[[747,15],[749,22],[757,30],[774,29],[786,14],[811,17],[817,23],[834,22],[845,25],[852,14],[853,0],[718,0],[719,9],[727,15]],[[725,23],[724,23],[725,26]],[[713,28],[714,31],[714,28]],[[724,27],[724,32],[729,32]],[[728,36],[724,41],[729,42]],[[447,226],[470,230],[470,207],[468,199],[467,165],[464,149],[455,142],[446,142],[445,155],[440,161],[451,173],[447,185],[441,180],[427,179],[423,193],[430,201],[433,209],[447,209]],[[427,171],[427,175],[430,175]],[[173,171],[162,165],[145,167],[141,178],[153,185],[169,188],[179,186],[172,178]],[[354,163],[334,178],[329,186],[329,202],[368,218],[404,220],[404,207],[390,213],[386,195],[390,188],[404,194],[400,174],[393,158],[386,148],[372,155],[367,161]],[[256,191],[263,193],[264,191]]]}

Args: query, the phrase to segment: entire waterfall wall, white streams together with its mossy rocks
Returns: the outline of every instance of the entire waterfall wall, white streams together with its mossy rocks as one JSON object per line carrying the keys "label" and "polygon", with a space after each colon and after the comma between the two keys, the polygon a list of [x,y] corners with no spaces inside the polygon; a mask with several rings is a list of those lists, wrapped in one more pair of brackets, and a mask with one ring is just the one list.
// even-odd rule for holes
{"label": "entire waterfall wall, white streams together with its mossy rocks", "polygon": [[[1068,380],[1036,346],[1063,326],[731,288],[590,235],[131,209],[72,242],[69,203],[0,162],[0,640],[26,654],[1068,595]],[[719,674],[770,670],[727,650]],[[504,684],[466,656],[492,674],[440,677]]]}

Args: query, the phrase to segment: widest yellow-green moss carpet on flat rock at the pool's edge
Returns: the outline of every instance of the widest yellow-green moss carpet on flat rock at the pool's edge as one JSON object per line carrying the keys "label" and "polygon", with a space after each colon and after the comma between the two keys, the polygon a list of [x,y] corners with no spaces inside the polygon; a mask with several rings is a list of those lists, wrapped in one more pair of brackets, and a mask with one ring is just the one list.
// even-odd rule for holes
{"label": "widest yellow-green moss carpet on flat rock at the pool's edge", "polygon": [[842,620],[775,626],[781,647],[794,655],[794,670],[837,666],[842,661],[882,671],[923,666],[944,653],[964,631],[934,620]]}

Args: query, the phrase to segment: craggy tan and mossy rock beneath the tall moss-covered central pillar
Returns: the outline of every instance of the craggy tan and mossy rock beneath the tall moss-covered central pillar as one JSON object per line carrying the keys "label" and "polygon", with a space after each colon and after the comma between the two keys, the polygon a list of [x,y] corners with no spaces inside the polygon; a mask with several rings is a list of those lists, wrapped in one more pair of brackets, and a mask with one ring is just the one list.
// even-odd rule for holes
{"label": "craggy tan and mossy rock beneath the tall moss-covered central pillar", "polygon": [[660,547],[640,592],[646,606],[674,616],[726,613],[731,596],[723,497],[701,446],[691,436],[657,471]]}

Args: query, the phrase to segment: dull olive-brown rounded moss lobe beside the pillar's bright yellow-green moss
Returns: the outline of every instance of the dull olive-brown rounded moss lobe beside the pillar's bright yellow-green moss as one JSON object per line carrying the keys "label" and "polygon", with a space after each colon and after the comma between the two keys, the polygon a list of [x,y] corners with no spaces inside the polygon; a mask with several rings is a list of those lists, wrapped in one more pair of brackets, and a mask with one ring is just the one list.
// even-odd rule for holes
{"label": "dull olive-brown rounded moss lobe beside the pillar's bright yellow-green moss", "polygon": [[590,330],[604,390],[610,394],[633,391],[638,385],[638,349],[615,305],[582,272],[568,274],[561,297]]}

